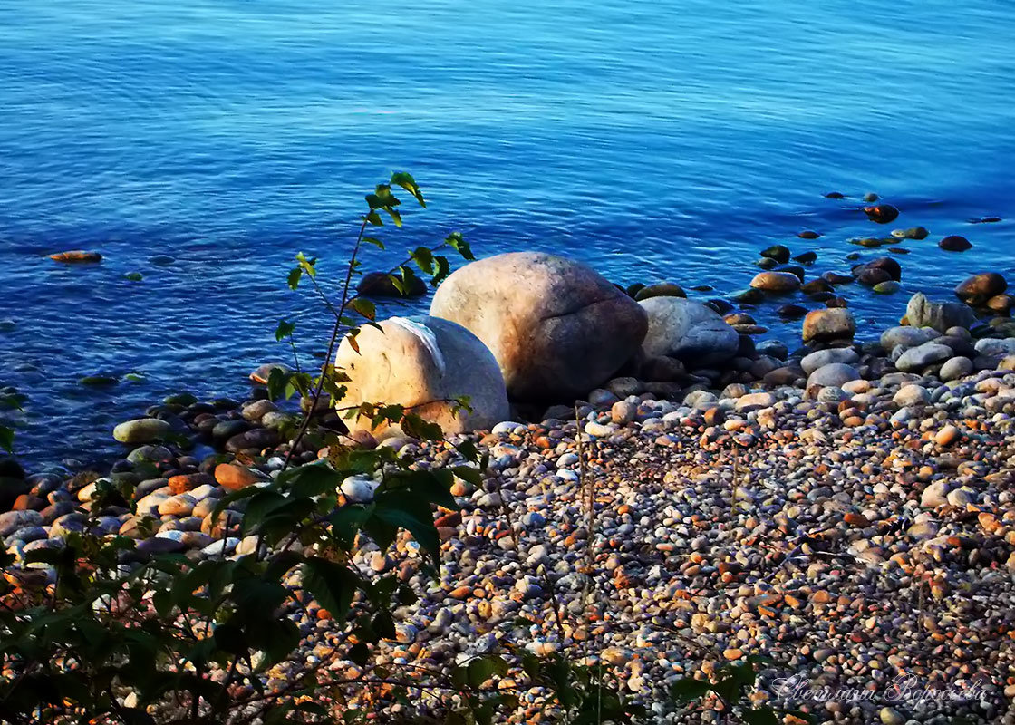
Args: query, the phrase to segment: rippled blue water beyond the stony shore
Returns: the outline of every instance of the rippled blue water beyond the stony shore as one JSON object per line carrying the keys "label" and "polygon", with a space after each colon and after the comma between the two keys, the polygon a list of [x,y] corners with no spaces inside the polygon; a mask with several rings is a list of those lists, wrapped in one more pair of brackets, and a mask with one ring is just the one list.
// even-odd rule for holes
{"label": "rippled blue water beyond the stony shore", "polygon": [[[873,254],[847,239],[924,224],[902,292],[844,288],[887,324],[907,292],[1015,272],[1013,45],[998,0],[0,0],[0,382],[29,396],[0,415],[29,461],[88,460],[166,393],[243,397],[285,357],[277,319],[313,309],[285,289],[292,255],[337,272],[393,170],[430,201],[393,249],[461,229],[480,254],[720,293],[774,242],[845,271]],[[867,191],[898,221],[874,228]],[[44,256],[75,248],[106,259]],[[795,338],[774,307],[754,314]],[[304,339],[323,325],[304,314]],[[128,372],[144,381],[77,384]]]}

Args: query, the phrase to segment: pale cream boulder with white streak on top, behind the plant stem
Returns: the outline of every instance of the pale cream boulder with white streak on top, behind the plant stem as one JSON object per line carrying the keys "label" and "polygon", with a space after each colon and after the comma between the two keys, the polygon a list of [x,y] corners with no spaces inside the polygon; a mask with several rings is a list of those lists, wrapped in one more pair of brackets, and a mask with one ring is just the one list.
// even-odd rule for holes
{"label": "pale cream boulder with white streak on top, behind the plant stem", "polygon": [[[358,352],[348,338],[338,347],[335,367],[350,378],[340,406],[397,403],[438,423],[445,433],[486,430],[509,417],[497,361],[467,329],[423,316],[393,317],[379,325],[380,330],[360,329]],[[453,400],[464,395],[471,398],[472,411],[456,415]],[[350,431],[374,430],[365,417],[346,424]]]}

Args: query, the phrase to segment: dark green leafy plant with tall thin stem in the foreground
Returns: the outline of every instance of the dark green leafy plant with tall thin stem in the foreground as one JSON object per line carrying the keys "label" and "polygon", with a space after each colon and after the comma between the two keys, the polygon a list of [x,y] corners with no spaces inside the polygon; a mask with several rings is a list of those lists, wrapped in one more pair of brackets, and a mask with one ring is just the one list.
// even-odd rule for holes
{"label": "dark green leafy plant with tall thin stem in the foreground", "polygon": [[[404,173],[366,196],[368,209],[337,305],[318,279],[317,260],[296,255],[289,286],[310,280],[335,323],[321,372],[314,377],[300,372],[296,358],[295,371],[272,372],[272,397],[309,396],[312,413],[325,395],[333,403],[343,397],[342,375],[330,360],[343,336],[354,344],[359,325],[376,324],[373,304],[351,292],[351,280],[362,245],[383,247],[366,228],[383,225],[381,213],[402,223],[393,187],[425,206],[415,181]],[[413,250],[393,270],[396,283],[411,279],[410,263],[438,282],[450,270],[447,258],[435,254],[445,247],[471,258],[461,237],[452,235],[435,248]],[[276,337],[291,341],[294,329],[283,320]],[[443,439],[438,426],[402,406],[370,404],[354,412],[375,424],[398,422],[416,436]],[[95,487],[83,530],[67,535],[62,547],[26,551],[20,561],[4,554],[0,720],[324,722],[342,709],[349,688],[387,680],[381,673],[343,678],[335,674],[340,668],[329,667],[339,660],[365,664],[374,645],[395,637],[393,608],[416,597],[394,575],[365,577],[353,556],[365,545],[384,551],[408,535],[425,554],[420,568],[432,571],[439,565],[433,510],[455,508],[450,493],[455,476],[479,480],[475,466],[485,462],[474,446],[462,445],[457,465],[418,469],[390,448],[360,450],[332,438],[327,460],[292,465],[313,418],[303,418],[275,480],[226,496],[211,515],[223,536],[252,542],[243,555],[225,556],[224,543],[219,555],[202,561],[150,555],[144,543],[104,535],[98,518],[109,507],[130,503],[136,509],[133,489],[107,479]],[[0,444],[9,446],[7,431],[0,432]],[[356,476],[376,482],[369,501],[342,495],[343,481]],[[153,529],[152,522],[140,526]],[[299,661],[297,620],[300,615],[313,620],[312,602],[333,619],[340,642],[318,666],[297,666],[284,685],[271,687],[268,673],[274,666]]]}

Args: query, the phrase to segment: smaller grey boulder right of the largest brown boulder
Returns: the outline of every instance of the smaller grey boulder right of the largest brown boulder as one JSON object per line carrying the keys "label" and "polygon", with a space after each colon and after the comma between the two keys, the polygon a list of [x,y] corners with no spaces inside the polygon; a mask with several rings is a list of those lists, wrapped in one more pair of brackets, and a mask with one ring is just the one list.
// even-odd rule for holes
{"label": "smaller grey boulder right of the largest brown boulder", "polygon": [[668,355],[702,368],[737,354],[740,335],[710,307],[680,298],[650,298],[638,304],[649,316],[641,344],[647,357]]}

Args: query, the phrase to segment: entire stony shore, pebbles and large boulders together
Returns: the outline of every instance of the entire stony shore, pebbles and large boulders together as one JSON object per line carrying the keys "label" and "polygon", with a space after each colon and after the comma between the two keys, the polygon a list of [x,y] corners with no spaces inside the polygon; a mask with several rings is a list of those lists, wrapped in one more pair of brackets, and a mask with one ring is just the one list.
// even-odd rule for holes
{"label": "entire stony shore, pebbles and large boulders together", "polygon": [[[891,220],[883,208],[868,214]],[[834,288],[883,291],[900,278],[894,260],[805,283],[813,256],[780,267],[790,261],[783,247],[765,259],[772,268],[739,302],[801,290],[825,306],[781,312],[804,318],[805,346],[792,354],[755,343],[763,330],[725,301],[688,300],[673,283],[620,290],[585,265],[532,253],[467,265],[438,288],[429,316],[365,328],[358,350],[343,343],[336,365],[352,380],[342,404],[400,402],[491,454],[484,484],[457,481],[459,508],[437,512],[436,581],[419,573],[408,535],[391,551],[357,554],[364,572],[397,572],[422,596],[397,612],[397,641],[380,646],[379,664],[446,669],[516,646],[541,656],[563,648],[619,667],[663,722],[661,693],[675,679],[702,662],[763,654],[777,665],[761,700],[791,675],[885,695],[900,674],[979,687],[966,700],[804,703],[820,718],[1015,722],[1004,714],[1015,698],[1007,283],[974,275],[958,302],[913,295],[905,324],[856,341]],[[460,395],[471,410],[456,409]],[[235,534],[242,504],[210,514],[289,455],[297,419],[265,397],[175,396],[117,426],[133,450],[109,477],[136,484],[134,502],[92,511],[94,475],[13,471],[18,481],[0,489],[4,546],[20,559],[94,526],[138,539],[135,559],[253,552],[257,539]],[[547,407],[554,400],[567,404]],[[313,412],[347,432],[335,411]],[[538,422],[506,420],[520,413]],[[350,426],[355,445],[393,447],[417,466],[461,463],[452,446],[398,426]],[[162,443],[175,436],[193,447]],[[368,501],[374,487],[350,479],[343,501]],[[276,667],[270,683],[323,661],[357,676],[335,658],[344,644],[327,612],[311,602],[299,616],[306,661]],[[522,688],[529,721],[541,717],[547,693],[521,670],[502,686]]]}

